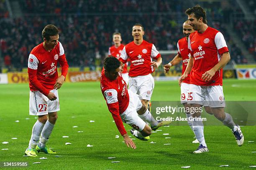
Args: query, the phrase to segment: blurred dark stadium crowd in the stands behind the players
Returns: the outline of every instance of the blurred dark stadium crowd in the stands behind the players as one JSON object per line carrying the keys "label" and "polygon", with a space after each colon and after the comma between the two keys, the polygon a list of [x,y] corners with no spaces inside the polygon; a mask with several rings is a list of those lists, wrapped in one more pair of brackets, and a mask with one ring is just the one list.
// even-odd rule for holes
{"label": "blurred dark stadium crowd in the stands behind the players", "polygon": [[[5,8],[3,4],[4,1],[0,2],[0,7]],[[94,70],[96,62],[101,63],[112,45],[113,32],[120,32],[125,44],[132,40],[132,25],[141,23],[145,40],[154,43],[158,50],[177,50],[177,40],[183,37],[182,23],[187,18],[184,15],[187,7],[183,1],[150,0],[144,3],[127,0],[110,3],[107,0],[101,3],[94,0],[21,0],[20,6],[24,14],[22,18],[2,16],[0,19],[0,48],[9,70],[12,67],[18,70],[27,67],[28,54],[42,42],[41,31],[47,24],[54,24],[60,29],[59,41],[64,46],[70,66],[90,66]],[[237,63],[246,63],[241,50],[223,28],[225,20],[218,20],[223,18],[225,11],[218,4],[212,8],[206,6],[206,10],[209,25],[223,32],[232,59]],[[248,30],[252,27],[253,24],[251,27],[248,25]],[[240,29],[237,28],[246,45],[255,48],[255,38],[248,36],[253,31]]]}

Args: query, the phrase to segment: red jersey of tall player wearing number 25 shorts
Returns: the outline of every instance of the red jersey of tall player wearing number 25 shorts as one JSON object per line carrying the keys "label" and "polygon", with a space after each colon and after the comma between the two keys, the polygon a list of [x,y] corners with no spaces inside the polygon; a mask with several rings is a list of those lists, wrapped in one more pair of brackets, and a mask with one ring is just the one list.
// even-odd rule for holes
{"label": "red jersey of tall player wearing number 25 shorts", "polygon": [[188,48],[194,57],[194,64],[190,72],[190,84],[212,86],[222,85],[222,69],[217,71],[209,82],[202,80],[202,75],[212,69],[228,47],[221,32],[208,27],[205,32],[193,32],[189,35]]}

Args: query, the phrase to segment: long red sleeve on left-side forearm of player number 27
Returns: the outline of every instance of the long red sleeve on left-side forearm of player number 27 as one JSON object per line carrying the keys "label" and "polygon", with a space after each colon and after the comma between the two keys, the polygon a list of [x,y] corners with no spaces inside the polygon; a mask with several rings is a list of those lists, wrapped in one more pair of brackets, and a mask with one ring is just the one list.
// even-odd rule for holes
{"label": "long red sleeve on left-side forearm of player number 27", "polygon": [[49,90],[47,90],[41,83],[37,80],[36,77],[37,70],[33,70],[31,68],[28,68],[28,79],[29,82],[38,89],[39,92],[43,93],[45,96],[49,94]]}

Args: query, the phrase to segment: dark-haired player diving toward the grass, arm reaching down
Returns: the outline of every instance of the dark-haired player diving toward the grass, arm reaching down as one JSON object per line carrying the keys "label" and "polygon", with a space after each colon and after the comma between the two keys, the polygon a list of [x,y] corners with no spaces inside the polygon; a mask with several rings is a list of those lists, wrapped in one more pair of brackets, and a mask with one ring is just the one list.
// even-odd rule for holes
{"label": "dark-haired player diving toward the grass, arm reaching down", "polygon": [[151,128],[146,122],[154,130],[160,126],[169,125],[171,122],[156,121],[146,109],[146,106],[142,105],[141,96],[127,89],[127,84],[119,72],[120,64],[120,61],[115,57],[106,57],[104,59],[100,88],[108,105],[108,110],[111,112],[118,130],[123,136],[125,144],[136,149],[136,145],[125,131],[123,122],[133,128],[131,133],[140,140],[148,140],[149,135],[151,135]]}

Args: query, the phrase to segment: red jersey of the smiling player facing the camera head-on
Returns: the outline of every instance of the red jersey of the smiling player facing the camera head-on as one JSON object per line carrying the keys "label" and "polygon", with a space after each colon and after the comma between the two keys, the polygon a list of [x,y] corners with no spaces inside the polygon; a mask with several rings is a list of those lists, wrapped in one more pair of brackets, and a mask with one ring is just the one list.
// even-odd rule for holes
{"label": "red jersey of the smiling player facing the camera head-on", "polygon": [[125,63],[129,58],[131,62],[129,76],[136,77],[154,72],[154,68],[153,66],[150,66],[150,62],[152,61],[152,58],[156,60],[159,57],[161,57],[161,55],[156,50],[154,44],[143,40],[141,45],[136,45],[132,41],[123,48],[120,61]]}

